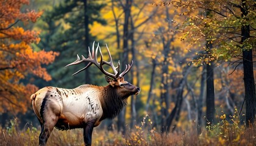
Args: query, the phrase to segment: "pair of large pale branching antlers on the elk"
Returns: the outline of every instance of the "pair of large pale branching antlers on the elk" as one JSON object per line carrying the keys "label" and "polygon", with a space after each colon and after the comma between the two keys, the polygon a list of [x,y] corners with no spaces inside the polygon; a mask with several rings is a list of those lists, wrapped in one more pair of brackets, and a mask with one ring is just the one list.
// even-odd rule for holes
{"label": "pair of large pale branching antlers on the elk", "polygon": [[[106,47],[107,47],[107,44],[106,44]],[[98,49],[99,49],[99,52],[101,54],[101,61],[100,62],[98,62],[98,60],[97,60]],[[133,61],[132,61],[132,64],[128,64],[128,66],[126,64],[126,69],[121,74],[119,74],[120,73],[120,63],[119,63],[119,61],[118,61],[118,66],[115,67],[114,64],[113,64],[113,60],[112,60],[112,57],[110,55],[108,47],[107,47],[107,52],[108,52],[108,57],[109,57],[110,61],[109,62],[104,61],[102,59],[103,56],[102,56],[101,47],[99,46],[99,43],[98,43],[98,46],[96,47],[96,50],[94,52],[94,42],[93,42],[92,54],[90,52],[90,47],[88,47],[88,52],[89,52],[88,58],[85,58],[82,55],[82,60],[80,60],[79,55],[77,55],[77,60],[74,61],[73,63],[70,63],[70,64],[66,65],[65,67],[76,65],[76,64],[80,64],[82,62],[88,62],[87,66],[85,66],[85,68],[80,69],[79,71],[75,72],[73,75],[75,75],[75,74],[77,74],[77,73],[79,73],[81,71],[84,71],[85,69],[89,68],[91,66],[91,64],[95,64],[95,66],[97,66],[101,70],[101,72],[103,74],[107,75],[108,77],[112,77],[114,79],[116,79],[118,77],[124,77],[124,75],[127,72],[130,71],[130,68],[132,68]],[[108,66],[110,66],[112,68],[114,74],[111,74],[111,73],[105,71],[105,69],[102,67],[104,64],[107,64]],[[118,70],[116,70],[116,69],[118,69]]]}

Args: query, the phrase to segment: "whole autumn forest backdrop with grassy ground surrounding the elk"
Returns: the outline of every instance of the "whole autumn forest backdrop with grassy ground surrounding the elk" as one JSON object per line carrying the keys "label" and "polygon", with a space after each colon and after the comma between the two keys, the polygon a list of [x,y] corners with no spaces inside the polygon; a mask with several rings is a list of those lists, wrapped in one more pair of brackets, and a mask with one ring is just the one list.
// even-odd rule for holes
{"label": "whole autumn forest backdrop with grassy ground surrounding the elk", "polygon": [[[0,145],[38,145],[38,89],[108,85],[95,66],[64,68],[94,41],[122,71],[133,60],[141,92],[93,145],[256,145],[255,1],[0,1]],[[83,145],[82,130],[48,144]]]}

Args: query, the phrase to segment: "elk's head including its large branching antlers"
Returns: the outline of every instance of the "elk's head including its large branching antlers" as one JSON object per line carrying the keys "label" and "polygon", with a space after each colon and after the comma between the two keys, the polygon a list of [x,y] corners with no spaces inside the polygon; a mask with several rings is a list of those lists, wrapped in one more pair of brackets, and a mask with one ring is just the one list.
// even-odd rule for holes
{"label": "elk's head including its large branching antlers", "polygon": [[[77,55],[77,60],[74,61],[73,63],[66,65],[66,66],[72,66],[72,65],[83,63],[83,62],[88,62],[87,66],[85,66],[85,68],[82,68],[73,74],[73,75],[75,75],[81,71],[84,71],[88,67],[90,67],[91,64],[94,64],[95,66],[97,66],[99,68],[99,70],[103,74],[105,74],[106,81],[110,84],[110,86],[112,86],[112,88],[115,88],[119,94],[123,94],[124,97],[128,97],[133,94],[135,94],[135,95],[139,94],[140,88],[138,88],[137,86],[134,86],[124,80],[124,75],[126,75],[127,72],[129,72],[130,69],[132,68],[133,61],[131,64],[128,64],[128,65],[126,64],[126,69],[124,69],[124,71],[120,73],[119,61],[118,61],[118,66],[114,66],[112,56],[110,55],[107,44],[106,44],[106,47],[107,47],[108,57],[109,57],[110,61],[103,60],[101,47],[99,46],[99,43],[98,43],[98,46],[96,47],[96,50],[94,51],[94,42],[93,42],[92,53],[90,52],[90,47],[88,47],[88,53],[89,53],[88,58],[85,58],[82,55],[82,60],[81,60],[79,55]],[[101,54],[100,62],[98,62],[98,60],[97,60],[98,50]],[[105,71],[105,69],[103,68],[104,64],[110,66],[112,68],[114,74]]]}

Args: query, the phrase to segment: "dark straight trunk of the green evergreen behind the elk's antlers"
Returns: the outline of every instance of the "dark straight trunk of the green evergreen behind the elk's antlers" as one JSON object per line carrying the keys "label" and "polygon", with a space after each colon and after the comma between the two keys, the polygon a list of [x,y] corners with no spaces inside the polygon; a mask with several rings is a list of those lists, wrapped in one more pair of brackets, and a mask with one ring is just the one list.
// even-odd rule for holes
{"label": "dark straight trunk of the green evergreen behind the elk's antlers", "polygon": [[[84,27],[85,27],[85,54],[88,54],[87,48],[90,44],[90,36],[89,36],[89,16],[88,16],[88,1],[84,0]],[[85,69],[85,83],[90,84],[90,70]]]}

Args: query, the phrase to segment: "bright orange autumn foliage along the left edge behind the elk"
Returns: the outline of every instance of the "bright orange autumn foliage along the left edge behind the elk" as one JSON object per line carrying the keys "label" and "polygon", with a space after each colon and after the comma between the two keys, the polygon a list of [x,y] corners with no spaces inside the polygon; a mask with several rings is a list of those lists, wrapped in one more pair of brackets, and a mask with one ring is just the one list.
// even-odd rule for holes
{"label": "bright orange autumn foliage along the left edge behind the elk", "polygon": [[37,91],[32,84],[25,85],[21,79],[32,74],[51,80],[42,64],[52,63],[59,53],[44,50],[35,52],[30,43],[39,43],[39,32],[26,30],[18,26],[20,22],[35,23],[43,12],[25,10],[21,7],[29,4],[27,0],[0,0],[0,113],[26,112],[29,95]]}

